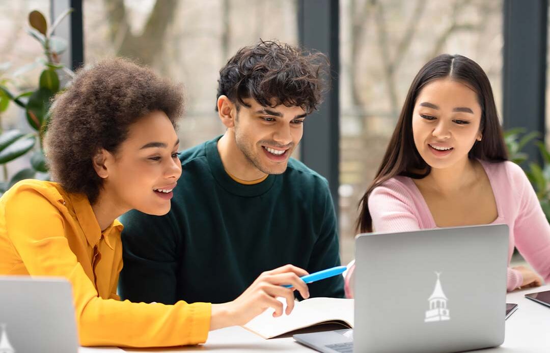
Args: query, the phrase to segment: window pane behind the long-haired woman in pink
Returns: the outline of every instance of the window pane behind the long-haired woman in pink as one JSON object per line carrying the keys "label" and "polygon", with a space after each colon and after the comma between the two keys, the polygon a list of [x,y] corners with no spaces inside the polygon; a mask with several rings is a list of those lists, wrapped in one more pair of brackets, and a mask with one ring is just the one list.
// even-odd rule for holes
{"label": "window pane behind the long-haired woman in pink", "polygon": [[357,203],[386,150],[410,83],[438,54],[487,72],[502,111],[502,0],[340,1],[340,234],[353,257]]}

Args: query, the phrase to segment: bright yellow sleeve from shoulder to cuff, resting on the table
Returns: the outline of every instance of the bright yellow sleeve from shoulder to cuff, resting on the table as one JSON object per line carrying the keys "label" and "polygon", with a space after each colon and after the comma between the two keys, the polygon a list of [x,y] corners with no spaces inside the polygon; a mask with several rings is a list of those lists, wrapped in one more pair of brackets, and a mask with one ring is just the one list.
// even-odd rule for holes
{"label": "bright yellow sleeve from shoulder to cuff, resting on the table", "polygon": [[206,341],[210,304],[180,301],[163,305],[100,298],[65,237],[65,220],[70,215],[34,190],[16,196],[5,209],[9,238],[31,276],[59,276],[72,283],[82,345],[154,347]]}

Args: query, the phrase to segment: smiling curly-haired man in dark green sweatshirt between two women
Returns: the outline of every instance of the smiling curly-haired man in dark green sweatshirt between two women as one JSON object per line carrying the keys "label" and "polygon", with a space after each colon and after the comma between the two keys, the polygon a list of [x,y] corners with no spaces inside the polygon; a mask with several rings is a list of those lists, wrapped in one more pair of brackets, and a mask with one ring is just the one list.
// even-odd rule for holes
{"label": "smiling curly-haired man in dark green sweatshirt between two women", "polygon": [[[226,133],[179,155],[183,174],[166,216],[122,218],[125,298],[224,302],[270,268],[340,265],[328,183],[290,158],[327,75],[324,55],[271,41],[228,61],[216,107]],[[309,290],[342,297],[342,277]]]}

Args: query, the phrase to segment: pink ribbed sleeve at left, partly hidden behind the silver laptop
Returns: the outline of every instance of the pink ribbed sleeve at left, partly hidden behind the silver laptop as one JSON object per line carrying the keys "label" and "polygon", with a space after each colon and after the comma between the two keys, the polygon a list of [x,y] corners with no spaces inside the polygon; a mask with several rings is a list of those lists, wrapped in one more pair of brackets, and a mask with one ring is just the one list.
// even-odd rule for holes
{"label": "pink ribbed sleeve at left, partly hidden behind the silver laptop", "polygon": [[[410,193],[397,183],[379,186],[368,197],[368,210],[372,228],[376,232],[406,232],[420,229]],[[346,273],[344,290],[346,298],[353,298],[353,272],[355,264]]]}

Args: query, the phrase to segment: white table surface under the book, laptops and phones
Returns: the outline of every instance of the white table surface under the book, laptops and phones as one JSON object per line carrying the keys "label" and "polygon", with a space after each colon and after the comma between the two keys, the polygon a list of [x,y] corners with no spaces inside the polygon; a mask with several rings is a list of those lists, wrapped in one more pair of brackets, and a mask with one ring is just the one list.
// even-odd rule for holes
{"label": "white table surface under the book, laptops and phones", "polygon": [[[509,293],[507,295],[507,302],[518,304],[518,310],[506,321],[504,343],[496,348],[472,352],[550,352],[550,307],[543,306],[524,297],[527,293],[541,292],[542,290],[550,290],[550,285]],[[266,340],[237,326],[210,332],[206,343],[198,346],[156,349],[80,348],[79,353],[160,353],[187,351],[215,351],[219,353],[258,351],[315,352],[296,343],[292,337]]]}

